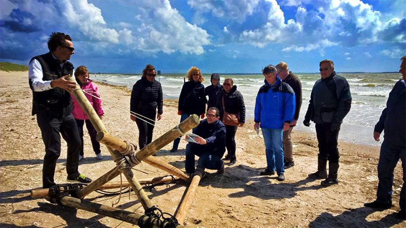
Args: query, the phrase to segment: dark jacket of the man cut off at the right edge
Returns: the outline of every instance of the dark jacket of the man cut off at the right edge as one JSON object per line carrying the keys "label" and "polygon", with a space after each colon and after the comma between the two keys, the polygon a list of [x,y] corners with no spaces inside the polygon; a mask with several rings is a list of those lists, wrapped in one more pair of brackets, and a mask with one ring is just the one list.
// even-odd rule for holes
{"label": "dark jacket of the man cut off at the right edge", "polygon": [[389,145],[406,147],[406,86],[399,80],[389,93],[386,108],[382,111],[374,131],[385,129],[385,142]]}

